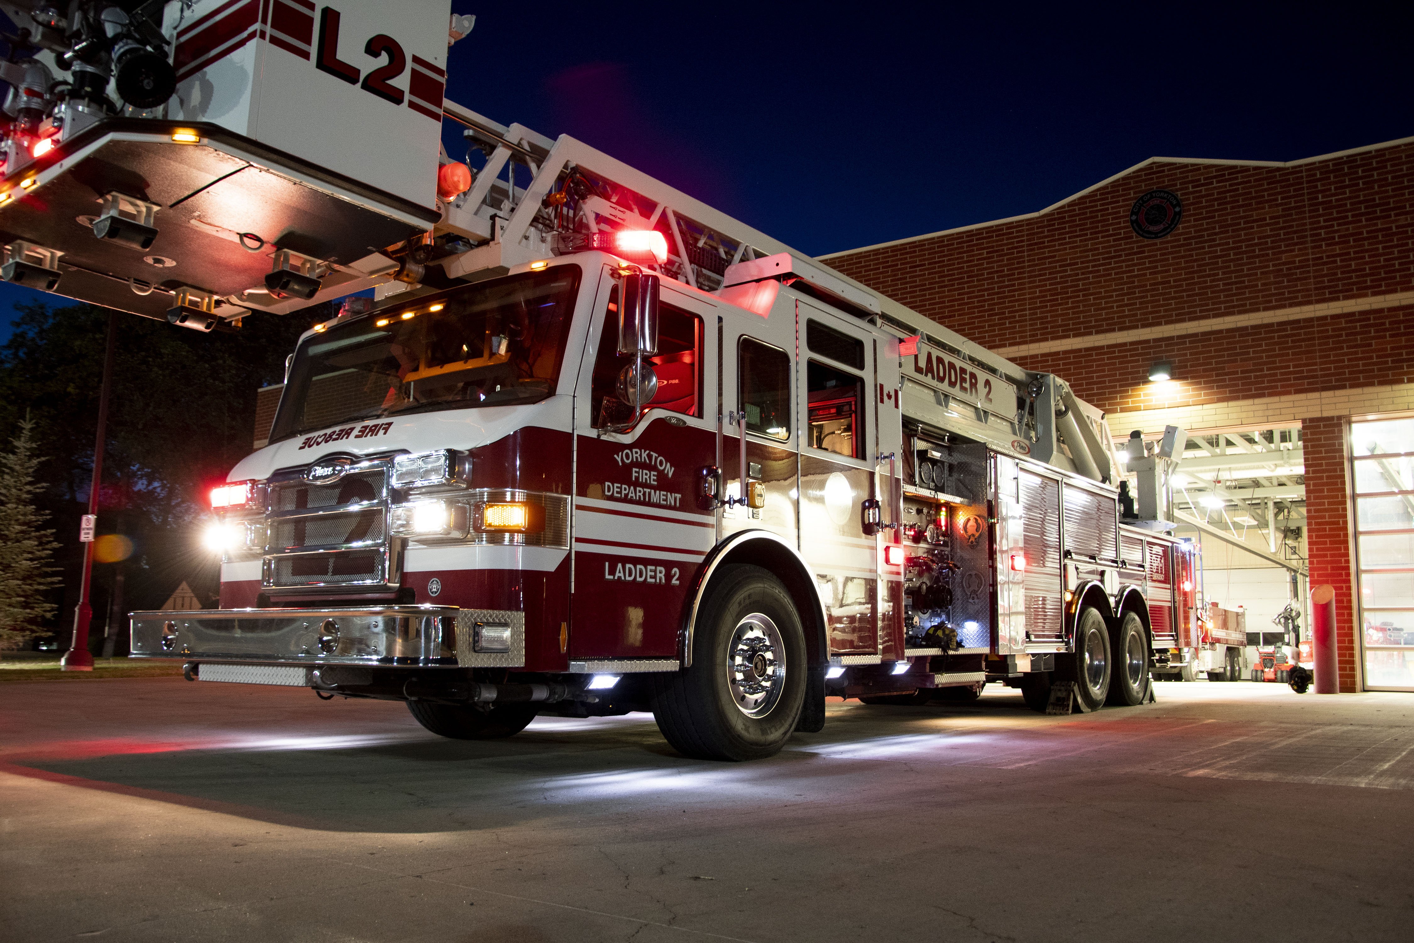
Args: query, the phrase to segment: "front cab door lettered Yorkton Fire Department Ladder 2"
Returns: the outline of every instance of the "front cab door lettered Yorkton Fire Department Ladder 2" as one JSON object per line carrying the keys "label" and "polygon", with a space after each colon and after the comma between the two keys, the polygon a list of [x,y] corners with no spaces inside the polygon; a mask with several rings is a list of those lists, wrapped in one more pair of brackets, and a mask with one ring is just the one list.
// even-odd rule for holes
{"label": "front cab door lettered Yorkton Fire Department Ladder 2", "polygon": [[635,416],[618,297],[605,267],[575,386],[571,662],[676,657],[717,533],[699,496],[700,471],[717,462],[715,305],[663,281],[658,353],[643,358],[656,386]]}

